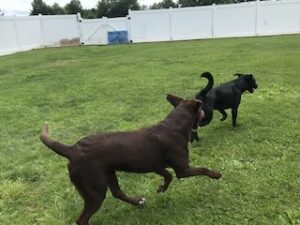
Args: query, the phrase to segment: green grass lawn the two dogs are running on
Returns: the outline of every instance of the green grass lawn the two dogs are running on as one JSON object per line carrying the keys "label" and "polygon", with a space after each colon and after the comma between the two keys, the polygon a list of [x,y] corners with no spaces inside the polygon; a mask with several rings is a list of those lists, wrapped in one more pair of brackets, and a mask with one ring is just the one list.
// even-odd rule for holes
{"label": "green grass lawn the two dogs are running on", "polygon": [[[118,173],[124,192],[147,199],[136,208],[110,192],[91,225],[300,224],[300,36],[50,48],[0,57],[0,223],[74,224],[83,202],[67,161],[39,142],[74,143],[102,131],[134,130],[164,119],[166,93],[192,98],[236,72],[259,88],[244,94],[237,128],[231,118],[201,130],[191,165],[218,169],[176,180],[156,194],[155,174]],[[173,171],[172,171],[173,173]],[[174,174],[174,173],[173,173]]]}

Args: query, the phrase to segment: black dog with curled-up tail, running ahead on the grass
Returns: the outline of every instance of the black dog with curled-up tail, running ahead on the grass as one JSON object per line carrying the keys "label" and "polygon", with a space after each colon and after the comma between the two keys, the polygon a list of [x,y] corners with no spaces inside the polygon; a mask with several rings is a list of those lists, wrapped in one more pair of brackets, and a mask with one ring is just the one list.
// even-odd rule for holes
{"label": "black dog with curled-up tail, running ahead on the grass", "polygon": [[[220,119],[224,121],[227,118],[225,109],[231,109],[232,125],[236,126],[236,118],[238,114],[238,107],[241,103],[241,96],[245,91],[254,92],[258,86],[252,74],[236,73],[237,79],[221,84],[218,87],[212,88],[214,79],[211,73],[205,72],[201,77],[208,79],[207,86],[196,94],[196,99],[203,101],[203,111],[205,118],[199,122],[199,126],[203,127],[209,124],[213,118],[213,110],[216,109],[222,113],[223,117]],[[192,130],[191,142],[199,140],[197,129]]]}

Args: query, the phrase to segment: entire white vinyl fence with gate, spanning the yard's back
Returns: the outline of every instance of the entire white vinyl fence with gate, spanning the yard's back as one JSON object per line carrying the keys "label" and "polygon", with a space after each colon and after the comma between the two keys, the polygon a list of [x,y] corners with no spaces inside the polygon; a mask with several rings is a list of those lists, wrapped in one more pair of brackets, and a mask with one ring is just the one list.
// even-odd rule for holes
{"label": "entire white vinyl fence with gate, spanning the yard's back", "polygon": [[109,31],[132,42],[300,33],[300,0],[130,11],[127,17],[0,17],[0,55],[46,46],[108,44]]}

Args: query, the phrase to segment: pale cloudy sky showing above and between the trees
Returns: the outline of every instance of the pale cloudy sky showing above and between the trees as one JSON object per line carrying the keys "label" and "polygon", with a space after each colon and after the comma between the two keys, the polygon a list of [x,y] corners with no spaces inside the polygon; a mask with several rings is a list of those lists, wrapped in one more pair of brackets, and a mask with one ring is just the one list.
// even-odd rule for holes
{"label": "pale cloudy sky showing above and between the trees", "polygon": [[[33,0],[0,0],[0,9],[6,16],[26,16],[31,10],[31,2]],[[70,0],[43,0],[47,5],[57,2],[60,6],[65,6]],[[81,5],[85,9],[93,8],[99,0],[80,0]],[[138,0],[140,5],[152,5],[160,0]]]}

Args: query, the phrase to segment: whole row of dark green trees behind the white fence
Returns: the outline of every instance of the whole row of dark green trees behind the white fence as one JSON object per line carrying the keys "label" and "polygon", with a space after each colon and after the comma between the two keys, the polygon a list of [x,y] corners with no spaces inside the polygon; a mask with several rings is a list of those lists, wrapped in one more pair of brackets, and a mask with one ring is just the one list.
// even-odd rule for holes
{"label": "whole row of dark green trees behind the white fence", "polygon": [[[154,3],[150,9],[161,8],[177,8],[177,7],[192,7],[205,6],[215,4],[230,4],[238,2],[247,2],[255,0],[162,0],[159,3]],[[128,15],[128,9],[141,10],[147,9],[145,5],[140,5],[138,0],[99,0],[95,8],[84,9],[80,0],[71,0],[65,6],[60,6],[58,3],[47,5],[43,0],[33,0],[31,3],[32,9],[30,15],[64,15],[80,13],[83,18],[101,18],[103,16],[124,17]]]}

